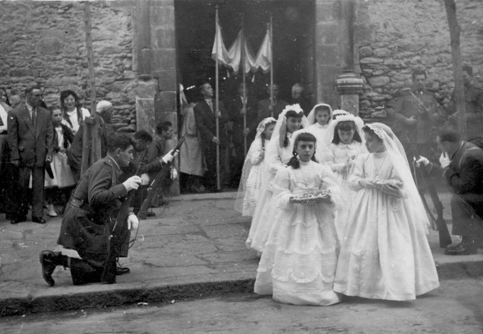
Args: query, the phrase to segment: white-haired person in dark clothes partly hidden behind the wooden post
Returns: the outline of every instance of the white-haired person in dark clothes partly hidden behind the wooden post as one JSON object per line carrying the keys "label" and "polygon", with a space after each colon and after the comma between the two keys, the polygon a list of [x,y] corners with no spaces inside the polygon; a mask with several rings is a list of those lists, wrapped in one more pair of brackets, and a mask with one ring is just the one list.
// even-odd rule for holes
{"label": "white-haired person in dark clothes partly hidden behind the wooden post", "polygon": [[[99,101],[96,106],[96,114],[92,117],[99,122],[99,140],[101,141],[101,156],[104,158],[107,154],[107,136],[111,132],[109,124],[112,119],[112,103],[109,101]],[[67,153],[67,163],[69,163],[74,179],[76,182],[80,180],[80,169],[82,166],[82,138],[84,136],[84,124],[82,122],[79,126],[79,131],[75,134],[72,146]],[[89,166],[92,166],[96,161],[90,161]]]}

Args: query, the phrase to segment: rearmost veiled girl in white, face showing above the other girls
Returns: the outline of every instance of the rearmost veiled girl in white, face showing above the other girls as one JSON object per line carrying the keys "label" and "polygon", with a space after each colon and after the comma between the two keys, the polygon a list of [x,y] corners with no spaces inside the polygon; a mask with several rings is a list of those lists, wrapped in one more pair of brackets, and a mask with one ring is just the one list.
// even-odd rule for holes
{"label": "rearmost veiled girl in white, face showing above the other girls", "polygon": [[317,155],[315,159],[320,163],[324,163],[328,158],[326,149],[328,143],[325,142],[325,138],[331,119],[332,108],[329,104],[325,103],[315,104],[315,107],[310,110],[307,116],[308,124],[310,124],[307,131],[317,139]]}

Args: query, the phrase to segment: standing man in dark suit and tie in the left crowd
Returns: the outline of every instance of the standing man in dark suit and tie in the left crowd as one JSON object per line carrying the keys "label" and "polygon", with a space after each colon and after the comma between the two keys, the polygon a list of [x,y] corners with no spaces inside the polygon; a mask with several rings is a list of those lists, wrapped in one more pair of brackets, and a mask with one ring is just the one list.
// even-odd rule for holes
{"label": "standing man in dark suit and tie in the left crowd", "polygon": [[53,129],[50,112],[40,106],[42,89],[38,85],[25,90],[26,103],[9,113],[8,136],[11,161],[18,167],[18,198],[16,215],[11,223],[27,220],[28,183],[32,176],[32,221],[45,224],[43,219],[43,183],[45,163],[52,161]]}

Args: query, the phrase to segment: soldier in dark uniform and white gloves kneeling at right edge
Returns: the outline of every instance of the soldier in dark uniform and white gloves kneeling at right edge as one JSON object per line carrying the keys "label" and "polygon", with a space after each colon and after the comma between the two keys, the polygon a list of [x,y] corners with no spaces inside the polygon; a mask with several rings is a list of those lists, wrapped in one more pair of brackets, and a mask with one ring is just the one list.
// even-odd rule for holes
{"label": "soldier in dark uniform and white gloves kneeling at right edge", "polygon": [[483,241],[483,151],[462,141],[454,129],[443,129],[437,136],[443,152],[441,166],[421,157],[417,163],[428,166],[431,173],[446,177],[453,191],[451,198],[452,235],[461,235],[462,242],[445,250],[447,255],[477,254]]}

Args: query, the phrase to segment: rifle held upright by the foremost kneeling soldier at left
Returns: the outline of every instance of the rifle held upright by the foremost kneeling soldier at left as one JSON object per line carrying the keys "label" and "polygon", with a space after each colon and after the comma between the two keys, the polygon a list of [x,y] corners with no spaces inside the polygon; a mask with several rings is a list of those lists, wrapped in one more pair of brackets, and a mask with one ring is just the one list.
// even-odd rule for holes
{"label": "rifle held upright by the foremost kneeling soldier at left", "polygon": [[[144,150],[141,162],[139,163],[136,173],[134,174],[135,176],[139,176],[139,171],[141,170],[141,166],[143,165],[144,157],[146,156],[147,151],[147,149]],[[129,191],[126,200],[124,200],[121,208],[119,208],[119,212],[117,212],[116,222],[114,223],[111,235],[109,235],[107,240],[107,260],[106,264],[104,264],[101,281],[109,284],[116,283],[116,258],[119,252],[118,248],[120,245],[124,244],[126,238],[131,235],[131,232],[127,228],[121,228],[121,231],[118,235],[116,235],[116,230],[119,224],[121,224],[121,227],[126,225],[126,217],[129,213],[129,207],[131,206],[134,195],[136,195],[136,190]]]}

